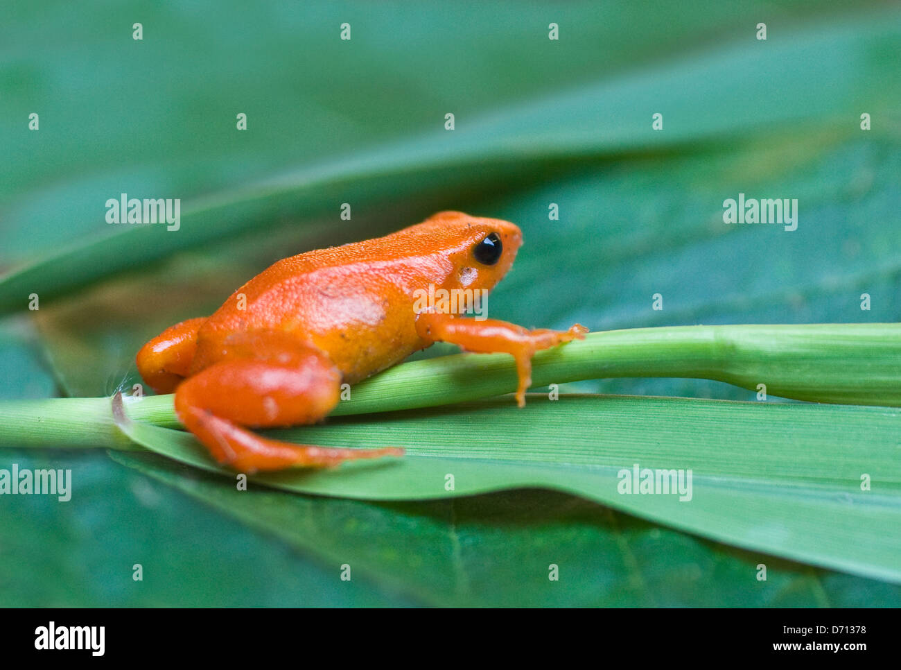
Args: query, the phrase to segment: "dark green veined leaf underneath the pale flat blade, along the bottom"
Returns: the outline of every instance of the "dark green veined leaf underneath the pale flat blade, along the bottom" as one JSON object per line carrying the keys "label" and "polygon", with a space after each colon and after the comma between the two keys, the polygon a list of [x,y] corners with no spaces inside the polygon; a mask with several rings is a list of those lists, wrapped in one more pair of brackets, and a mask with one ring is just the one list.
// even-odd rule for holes
{"label": "dark green veined leaf underneath the pale flat blade, along the bottom", "polygon": [[[154,455],[112,454],[161,482],[320,556],[335,576],[465,606],[879,607],[901,586],[737,550],[556,491],[364,502],[205,475]],[[760,563],[767,566],[760,581]],[[559,581],[549,579],[551,564]]]}

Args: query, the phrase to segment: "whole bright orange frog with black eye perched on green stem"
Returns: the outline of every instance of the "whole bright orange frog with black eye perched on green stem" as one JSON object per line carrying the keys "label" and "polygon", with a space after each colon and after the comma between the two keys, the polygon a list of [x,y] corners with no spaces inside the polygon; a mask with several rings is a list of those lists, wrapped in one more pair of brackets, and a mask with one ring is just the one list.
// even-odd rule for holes
{"label": "whole bright orange frog with black eye perched on green stem", "polygon": [[506,221],[441,212],[395,234],[283,259],[236,290],[212,317],[171,326],[144,344],[138,370],[175,390],[178,419],[220,463],[242,472],[327,466],[403,450],[293,445],[243,427],[324,418],[355,383],[435,342],[511,353],[522,407],[532,354],[583,338],[415,309],[414,294],[493,289],[523,243]]}

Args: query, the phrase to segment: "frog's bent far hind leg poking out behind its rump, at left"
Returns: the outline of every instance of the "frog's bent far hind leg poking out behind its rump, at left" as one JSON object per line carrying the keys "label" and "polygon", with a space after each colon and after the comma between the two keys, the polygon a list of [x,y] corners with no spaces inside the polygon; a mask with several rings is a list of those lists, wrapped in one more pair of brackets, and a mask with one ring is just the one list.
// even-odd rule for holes
{"label": "frog's bent far hind leg poking out behind its rump, at left", "polygon": [[157,393],[171,393],[191,368],[197,348],[197,331],[206,317],[189,318],[169,326],[138,352],[138,372]]}

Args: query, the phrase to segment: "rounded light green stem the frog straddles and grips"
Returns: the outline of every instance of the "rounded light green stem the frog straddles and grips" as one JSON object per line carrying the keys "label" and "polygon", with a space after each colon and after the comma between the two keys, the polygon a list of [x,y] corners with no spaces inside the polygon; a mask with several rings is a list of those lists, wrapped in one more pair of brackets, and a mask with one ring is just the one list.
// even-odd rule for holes
{"label": "rounded light green stem the frog straddles and grips", "polygon": [[[901,324],[672,326],[592,333],[535,355],[533,387],[608,377],[693,377],[768,395],[901,406]],[[511,356],[403,363],[362,381],[333,416],[424,408],[510,393]],[[132,418],[177,427],[172,397],[126,399]],[[0,445],[114,446],[108,399],[0,402]]]}

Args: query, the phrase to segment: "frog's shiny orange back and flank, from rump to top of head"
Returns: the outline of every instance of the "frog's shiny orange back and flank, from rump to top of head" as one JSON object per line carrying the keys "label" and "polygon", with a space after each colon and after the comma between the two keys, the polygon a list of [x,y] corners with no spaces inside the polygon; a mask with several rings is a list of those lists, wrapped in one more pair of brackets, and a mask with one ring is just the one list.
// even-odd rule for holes
{"label": "frog's shiny orange back and flank, from rump to top of head", "polygon": [[328,353],[350,381],[383,370],[426,345],[415,330],[415,291],[459,280],[460,259],[502,224],[518,246],[512,224],[448,212],[385,237],[278,261],[207,319],[192,367],[227,355],[223,345],[235,334],[278,331]]}

